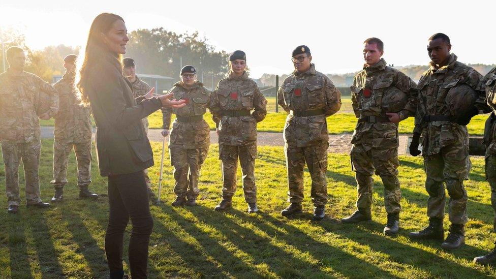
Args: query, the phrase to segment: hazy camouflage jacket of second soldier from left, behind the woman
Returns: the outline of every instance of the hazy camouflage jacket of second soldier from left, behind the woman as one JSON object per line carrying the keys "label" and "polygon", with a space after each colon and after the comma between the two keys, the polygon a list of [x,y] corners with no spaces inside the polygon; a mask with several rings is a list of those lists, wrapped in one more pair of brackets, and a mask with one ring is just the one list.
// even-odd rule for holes
{"label": "hazy camouflage jacket of second soldier from left, behind the woman", "polygon": [[89,107],[77,99],[74,89],[75,72],[66,72],[61,80],[53,84],[58,91],[60,107],[55,115],[55,140],[67,143],[82,143],[91,140]]}

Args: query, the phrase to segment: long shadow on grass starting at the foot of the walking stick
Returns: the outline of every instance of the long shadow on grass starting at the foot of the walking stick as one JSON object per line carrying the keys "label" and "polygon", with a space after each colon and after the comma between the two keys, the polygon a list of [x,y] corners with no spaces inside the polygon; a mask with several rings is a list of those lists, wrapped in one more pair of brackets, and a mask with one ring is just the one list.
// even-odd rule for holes
{"label": "long shadow on grass starting at the foot of the walking stick", "polygon": [[[225,247],[219,244],[218,240],[211,238],[207,233],[198,229],[191,221],[186,220],[182,215],[178,214],[168,205],[159,207],[165,214],[176,222],[185,232],[194,237],[203,247],[203,250],[198,249],[194,245],[185,242],[177,237],[174,232],[167,228],[156,217],[154,222],[154,230],[166,236],[168,244],[172,251],[179,255],[181,259],[188,264],[188,267],[193,269],[201,276],[226,276],[234,271],[243,272],[246,277],[259,277],[260,274],[253,270],[246,263],[241,261],[237,256],[227,251]],[[203,253],[218,261],[221,265],[209,261],[202,256]],[[222,272],[221,272],[222,270]],[[151,273],[150,273],[151,276]]]}

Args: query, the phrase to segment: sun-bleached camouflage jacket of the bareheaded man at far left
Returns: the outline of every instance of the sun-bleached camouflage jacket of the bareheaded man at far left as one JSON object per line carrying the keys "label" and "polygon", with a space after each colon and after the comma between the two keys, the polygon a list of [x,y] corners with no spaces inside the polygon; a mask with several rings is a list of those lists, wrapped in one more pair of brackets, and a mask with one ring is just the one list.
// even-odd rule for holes
{"label": "sun-bleached camouflage jacket of the bareheaded man at far left", "polygon": [[36,112],[40,101],[48,101],[51,117],[57,113],[58,94],[48,82],[27,72],[15,76],[10,69],[0,74],[0,139],[15,143],[40,139]]}

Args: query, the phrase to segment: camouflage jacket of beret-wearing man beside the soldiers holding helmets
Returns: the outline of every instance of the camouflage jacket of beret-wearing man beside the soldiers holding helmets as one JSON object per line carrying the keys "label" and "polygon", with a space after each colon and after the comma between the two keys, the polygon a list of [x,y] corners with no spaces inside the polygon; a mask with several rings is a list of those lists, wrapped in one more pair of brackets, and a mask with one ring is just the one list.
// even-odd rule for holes
{"label": "camouflage jacket of beret-wearing man beside the soldiers holding helmets", "polygon": [[[326,117],[341,108],[341,92],[312,64],[308,71],[294,71],[284,80],[277,91],[277,103],[289,113],[283,133],[285,142],[298,147],[311,146],[329,140]],[[322,110],[322,113],[295,116],[295,110]]]}

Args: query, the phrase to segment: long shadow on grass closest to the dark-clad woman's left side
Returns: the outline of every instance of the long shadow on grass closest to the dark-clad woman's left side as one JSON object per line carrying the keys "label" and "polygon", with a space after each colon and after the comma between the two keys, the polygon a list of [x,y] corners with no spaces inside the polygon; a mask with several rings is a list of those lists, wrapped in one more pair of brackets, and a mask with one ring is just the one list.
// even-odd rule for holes
{"label": "long shadow on grass closest to the dark-clad woman's left side", "polygon": [[91,277],[97,278],[106,276],[108,267],[105,251],[100,248],[97,240],[92,236],[91,232],[88,231],[88,228],[86,228],[86,225],[81,220],[79,213],[64,209],[61,211],[62,218],[67,222],[73,240],[79,246],[79,249],[75,252],[84,255],[88,267],[91,270]]}

